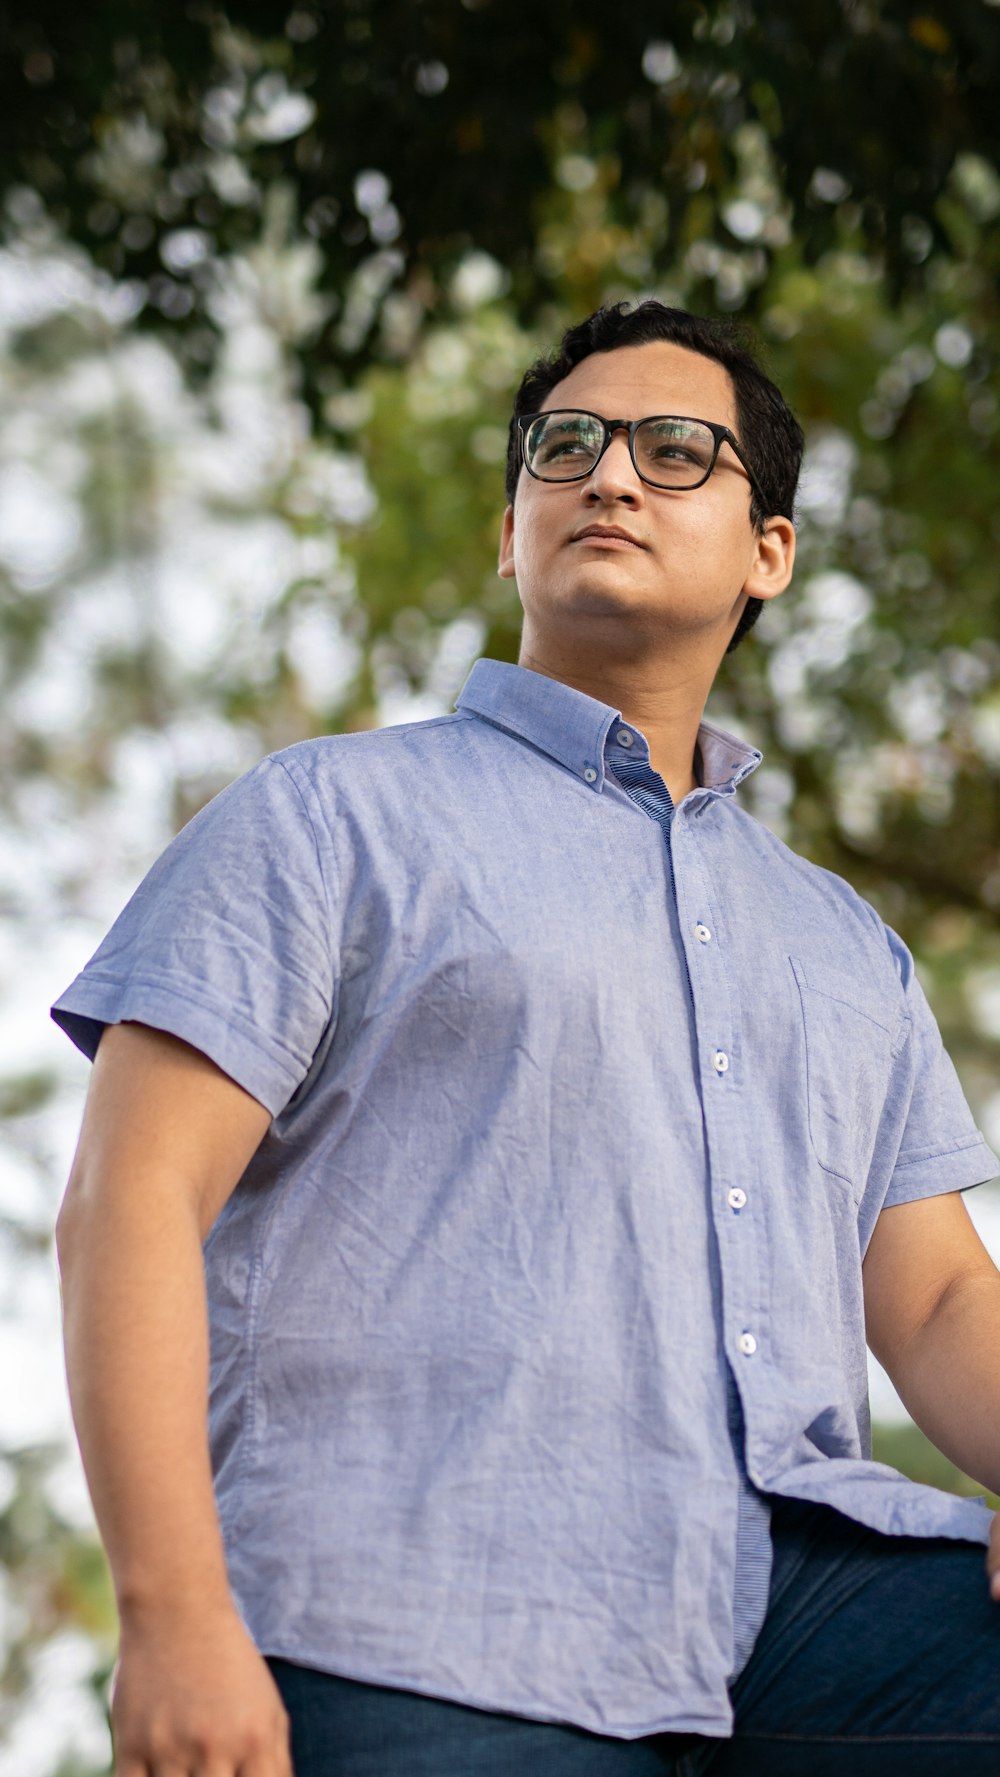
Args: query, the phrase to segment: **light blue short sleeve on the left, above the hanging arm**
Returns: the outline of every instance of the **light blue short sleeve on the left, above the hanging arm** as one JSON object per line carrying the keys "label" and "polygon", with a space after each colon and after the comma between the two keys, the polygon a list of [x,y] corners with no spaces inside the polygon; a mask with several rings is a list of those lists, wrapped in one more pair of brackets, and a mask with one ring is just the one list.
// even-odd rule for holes
{"label": "light blue short sleeve on the left, above the hanging arm", "polygon": [[265,759],[174,839],[52,1016],[89,1057],[108,1024],[169,1031],[277,1116],[336,1008],[327,888],[302,796]]}

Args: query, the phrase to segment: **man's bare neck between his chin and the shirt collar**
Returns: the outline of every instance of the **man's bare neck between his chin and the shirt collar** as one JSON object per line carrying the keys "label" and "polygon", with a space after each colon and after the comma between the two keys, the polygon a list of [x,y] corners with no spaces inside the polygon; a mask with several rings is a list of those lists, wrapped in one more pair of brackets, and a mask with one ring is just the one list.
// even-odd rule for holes
{"label": "man's bare neck between his chin and the shirt collar", "polygon": [[684,650],[655,661],[597,661],[540,641],[526,627],[519,665],[620,709],[645,734],[650,764],[675,803],[694,789],[694,746],[718,661],[709,670],[684,659]]}

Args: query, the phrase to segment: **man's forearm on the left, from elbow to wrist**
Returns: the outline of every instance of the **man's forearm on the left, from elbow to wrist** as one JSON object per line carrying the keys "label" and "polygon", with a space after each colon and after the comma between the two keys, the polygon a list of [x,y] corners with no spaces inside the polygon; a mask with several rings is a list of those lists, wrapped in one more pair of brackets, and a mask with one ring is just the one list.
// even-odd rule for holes
{"label": "man's forearm on the left, from elbow to wrist", "polygon": [[69,1395],[123,1617],[229,1598],[197,1215],[167,1180],[130,1183],[83,1176],[59,1224]]}

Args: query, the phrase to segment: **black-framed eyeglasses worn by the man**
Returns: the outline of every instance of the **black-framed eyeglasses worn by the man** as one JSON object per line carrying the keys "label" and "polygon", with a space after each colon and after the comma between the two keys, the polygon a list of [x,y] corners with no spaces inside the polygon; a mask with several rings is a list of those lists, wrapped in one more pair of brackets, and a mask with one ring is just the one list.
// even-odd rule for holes
{"label": "black-framed eyeglasses worn by the man", "polygon": [[615,432],[629,434],[629,455],[639,480],[650,487],[703,487],[719,450],[735,451],[757,499],[764,494],[742,446],[728,426],[687,414],[652,414],[648,419],[604,419],[575,407],[551,414],[520,414],[520,457],[536,482],[583,482],[597,469]]}

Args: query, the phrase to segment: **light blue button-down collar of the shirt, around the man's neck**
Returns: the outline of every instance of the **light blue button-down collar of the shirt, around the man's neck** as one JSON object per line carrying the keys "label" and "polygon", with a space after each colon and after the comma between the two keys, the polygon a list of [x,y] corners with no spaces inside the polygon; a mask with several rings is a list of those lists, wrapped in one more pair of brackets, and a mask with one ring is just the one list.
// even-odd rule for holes
{"label": "light blue button-down collar of the shirt, around the man's neck", "polygon": [[[604,746],[611,725],[622,723],[622,713],[611,704],[600,704],[586,691],[528,666],[481,659],[472,666],[456,707],[538,746],[591,789],[604,789]],[[639,734],[638,729],[632,732]],[[702,796],[732,794],[762,759],[755,746],[710,721],[698,729],[698,748]]]}

